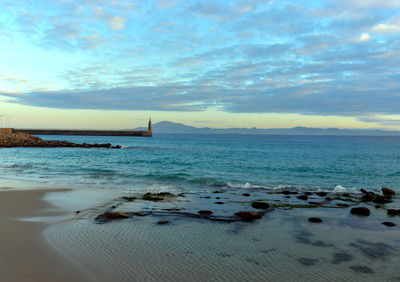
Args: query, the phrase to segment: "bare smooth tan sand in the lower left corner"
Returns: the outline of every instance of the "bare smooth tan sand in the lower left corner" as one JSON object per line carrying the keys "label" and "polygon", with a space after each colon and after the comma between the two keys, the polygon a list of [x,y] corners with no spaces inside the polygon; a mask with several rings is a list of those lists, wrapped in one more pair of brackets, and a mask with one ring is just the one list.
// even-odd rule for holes
{"label": "bare smooth tan sand in the lower left corner", "polygon": [[45,241],[49,223],[19,220],[65,215],[42,200],[50,191],[0,192],[0,281],[93,281]]}

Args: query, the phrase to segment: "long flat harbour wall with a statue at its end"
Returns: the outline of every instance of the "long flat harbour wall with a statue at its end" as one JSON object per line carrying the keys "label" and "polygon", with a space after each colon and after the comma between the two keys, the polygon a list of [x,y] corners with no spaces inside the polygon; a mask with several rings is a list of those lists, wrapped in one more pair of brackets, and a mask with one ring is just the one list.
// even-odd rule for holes
{"label": "long flat harbour wall with a statue at its end", "polygon": [[152,137],[151,119],[147,130],[79,130],[79,129],[16,129],[32,135],[79,135],[79,136],[138,136]]}

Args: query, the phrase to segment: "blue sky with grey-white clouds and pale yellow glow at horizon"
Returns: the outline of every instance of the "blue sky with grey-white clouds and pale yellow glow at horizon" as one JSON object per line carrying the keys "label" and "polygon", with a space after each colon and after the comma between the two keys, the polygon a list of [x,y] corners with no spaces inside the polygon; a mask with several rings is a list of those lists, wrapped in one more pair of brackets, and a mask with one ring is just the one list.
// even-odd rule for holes
{"label": "blue sky with grey-white clouds and pale yellow glow at horizon", "polygon": [[400,130],[400,0],[0,0],[0,115]]}

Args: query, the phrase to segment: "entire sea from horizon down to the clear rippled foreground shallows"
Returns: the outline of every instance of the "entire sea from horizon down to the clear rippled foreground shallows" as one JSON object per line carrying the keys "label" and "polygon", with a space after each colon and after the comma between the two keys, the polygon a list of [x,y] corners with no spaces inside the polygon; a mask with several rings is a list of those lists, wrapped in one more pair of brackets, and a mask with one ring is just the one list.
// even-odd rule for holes
{"label": "entire sea from horizon down to the clear rippled foreground shallows", "polygon": [[[40,137],[122,146],[0,149],[4,181],[72,188],[44,198],[65,217],[22,220],[50,221],[47,242],[92,281],[400,280],[400,217],[387,213],[399,193],[381,205],[360,192],[400,192],[399,137]],[[97,221],[106,211],[136,216]]]}

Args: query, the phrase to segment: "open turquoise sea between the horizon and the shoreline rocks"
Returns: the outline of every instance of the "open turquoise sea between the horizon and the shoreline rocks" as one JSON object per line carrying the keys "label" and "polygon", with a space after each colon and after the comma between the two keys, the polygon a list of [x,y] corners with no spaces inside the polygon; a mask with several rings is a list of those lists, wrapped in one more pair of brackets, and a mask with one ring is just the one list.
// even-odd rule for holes
{"label": "open turquoise sea between the horizon and the shoreline rocks", "polygon": [[123,149],[3,148],[0,177],[126,191],[216,186],[347,191],[400,190],[400,138],[169,135],[41,136]]}

